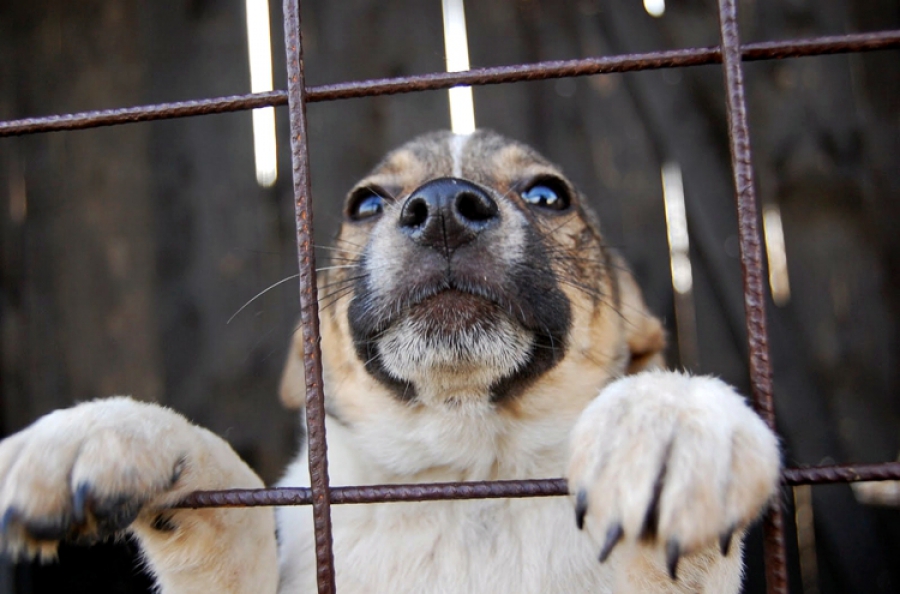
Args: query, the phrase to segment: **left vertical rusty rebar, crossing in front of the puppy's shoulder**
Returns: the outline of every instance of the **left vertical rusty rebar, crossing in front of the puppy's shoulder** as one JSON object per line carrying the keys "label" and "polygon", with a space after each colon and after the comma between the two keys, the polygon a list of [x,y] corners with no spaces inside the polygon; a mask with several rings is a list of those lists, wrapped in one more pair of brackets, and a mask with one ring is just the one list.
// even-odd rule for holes
{"label": "left vertical rusty rebar, crossing in front of the puppy's shoulder", "polygon": [[297,257],[300,272],[300,323],[306,374],[306,424],[309,476],[316,539],[319,594],[334,593],[334,553],[331,537],[331,494],[325,443],[325,403],[322,390],[322,351],[319,348],[319,308],[316,257],[313,249],[312,200],[306,134],[306,81],[300,35],[300,0],[284,0],[284,39],[287,52],[288,107],[291,120],[291,161],[297,217]]}

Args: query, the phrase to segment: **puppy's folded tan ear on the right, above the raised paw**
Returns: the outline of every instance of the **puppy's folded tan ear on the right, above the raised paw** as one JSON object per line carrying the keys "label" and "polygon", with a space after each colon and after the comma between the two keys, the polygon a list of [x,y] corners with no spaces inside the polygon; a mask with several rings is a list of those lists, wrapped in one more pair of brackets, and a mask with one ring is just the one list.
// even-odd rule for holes
{"label": "puppy's folded tan ear on the right, above the raised paw", "polygon": [[623,319],[630,360],[628,373],[665,367],[666,334],[659,319],[650,313],[640,287],[625,260],[614,254],[613,270],[619,289],[619,313]]}

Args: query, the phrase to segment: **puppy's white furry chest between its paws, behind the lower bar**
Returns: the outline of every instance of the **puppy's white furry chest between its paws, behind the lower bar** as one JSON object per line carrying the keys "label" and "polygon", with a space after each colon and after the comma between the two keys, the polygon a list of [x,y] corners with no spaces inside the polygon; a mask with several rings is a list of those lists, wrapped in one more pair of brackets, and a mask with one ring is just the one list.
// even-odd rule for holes
{"label": "puppy's white furry chest between its paws, behind the lower bar", "polygon": [[[420,435],[421,428],[417,433],[413,427],[383,431],[379,439],[368,440],[351,435],[339,424],[329,424],[332,484],[390,482],[376,472],[378,463],[361,461],[370,460],[376,452],[380,463],[393,453],[402,454],[403,460],[432,465],[461,464],[453,456],[467,457],[468,467],[483,467],[482,473],[436,474],[423,480],[491,478],[487,472],[495,458],[485,454],[496,451],[500,440],[485,437],[491,435],[490,428],[475,423],[454,427],[448,419],[442,420],[428,425],[425,436]],[[474,427],[470,427],[471,435],[465,433],[468,426]],[[390,439],[384,437],[386,433]],[[537,436],[523,433],[513,439],[507,432],[511,450],[519,453],[519,466],[532,462],[528,472],[503,478],[559,476],[565,434],[554,427]],[[457,445],[441,445],[442,440]],[[301,457],[288,469],[283,484],[308,485],[308,480],[306,460]],[[310,512],[278,510],[282,594],[315,591]],[[602,594],[612,589],[608,565],[598,563],[597,547],[576,528],[572,504],[565,497],[334,505],[331,513],[341,594]]]}

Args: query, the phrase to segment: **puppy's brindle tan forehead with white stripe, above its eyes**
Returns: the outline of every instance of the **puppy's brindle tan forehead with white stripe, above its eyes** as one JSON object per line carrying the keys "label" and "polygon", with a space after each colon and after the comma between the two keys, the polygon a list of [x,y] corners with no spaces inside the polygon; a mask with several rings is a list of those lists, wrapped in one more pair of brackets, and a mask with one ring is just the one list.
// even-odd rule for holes
{"label": "puppy's brindle tan forehead with white stripe, above its eyes", "polygon": [[561,175],[533,149],[498,134],[448,132],[416,138],[388,153],[363,183],[411,191],[439,177],[459,177],[505,190],[525,178]]}

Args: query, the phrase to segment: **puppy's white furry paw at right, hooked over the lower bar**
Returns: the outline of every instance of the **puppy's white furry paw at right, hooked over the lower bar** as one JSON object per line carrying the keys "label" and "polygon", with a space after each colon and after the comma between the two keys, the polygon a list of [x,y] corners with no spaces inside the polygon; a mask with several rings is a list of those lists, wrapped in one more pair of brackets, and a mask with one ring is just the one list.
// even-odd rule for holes
{"label": "puppy's white furry paw at right, hooked over the lower bar", "polygon": [[575,521],[605,561],[620,542],[679,559],[718,544],[774,495],[775,435],[735,391],[709,377],[654,371],[606,387],[572,434],[569,489]]}

